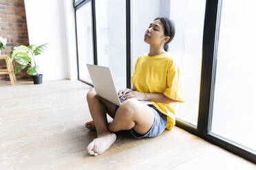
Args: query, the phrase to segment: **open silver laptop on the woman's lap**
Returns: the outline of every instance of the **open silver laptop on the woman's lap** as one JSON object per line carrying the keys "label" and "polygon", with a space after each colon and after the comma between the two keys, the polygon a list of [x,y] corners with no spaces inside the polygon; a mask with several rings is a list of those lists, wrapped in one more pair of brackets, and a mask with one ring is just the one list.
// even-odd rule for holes
{"label": "open silver laptop on the woman's lap", "polygon": [[[94,84],[97,95],[103,97],[107,101],[120,106],[123,102],[121,97],[118,97],[118,93],[110,72],[107,66],[96,66],[93,64],[87,64],[89,75]],[[152,104],[151,101],[141,100],[145,104]]]}

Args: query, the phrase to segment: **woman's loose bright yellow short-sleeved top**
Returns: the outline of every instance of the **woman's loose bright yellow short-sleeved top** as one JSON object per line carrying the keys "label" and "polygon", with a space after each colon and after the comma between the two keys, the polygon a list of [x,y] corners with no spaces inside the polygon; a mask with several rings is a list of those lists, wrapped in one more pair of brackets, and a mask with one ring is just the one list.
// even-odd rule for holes
{"label": "woman's loose bright yellow short-sleeved top", "polygon": [[[131,84],[138,92],[163,93],[170,99],[185,102],[180,66],[169,52],[157,56],[149,56],[148,53],[139,56]],[[175,108],[178,102],[164,104],[152,101],[153,106],[167,115],[167,130],[175,125]]]}

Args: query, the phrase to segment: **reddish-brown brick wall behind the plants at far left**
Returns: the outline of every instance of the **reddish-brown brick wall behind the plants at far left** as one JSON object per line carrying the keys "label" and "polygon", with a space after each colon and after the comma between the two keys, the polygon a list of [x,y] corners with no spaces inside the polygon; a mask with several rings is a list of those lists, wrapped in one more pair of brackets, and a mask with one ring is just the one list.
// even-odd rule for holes
{"label": "reddish-brown brick wall behind the plants at far left", "polygon": [[[2,55],[9,55],[16,46],[29,45],[24,0],[0,0],[0,36],[7,38],[6,49],[1,49]],[[19,66],[17,62],[12,64],[14,67]],[[0,68],[6,69],[4,60],[0,60]],[[31,79],[25,71],[26,69],[16,73],[17,80]],[[8,75],[0,74],[0,81],[7,80],[10,81]]]}

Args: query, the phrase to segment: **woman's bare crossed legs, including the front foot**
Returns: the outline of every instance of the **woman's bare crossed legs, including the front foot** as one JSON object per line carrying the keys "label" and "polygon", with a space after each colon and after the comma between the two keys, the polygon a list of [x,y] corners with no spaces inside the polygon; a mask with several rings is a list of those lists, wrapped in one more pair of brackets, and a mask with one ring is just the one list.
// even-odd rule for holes
{"label": "woman's bare crossed legs, including the front foot", "polygon": [[[96,95],[94,88],[87,93],[87,102],[97,132],[97,138],[87,147],[91,155],[102,154],[116,141],[116,134],[113,132],[134,128],[138,134],[146,134],[153,125],[153,111],[137,99],[124,101],[116,115],[116,105]],[[114,119],[109,125],[106,113]]]}

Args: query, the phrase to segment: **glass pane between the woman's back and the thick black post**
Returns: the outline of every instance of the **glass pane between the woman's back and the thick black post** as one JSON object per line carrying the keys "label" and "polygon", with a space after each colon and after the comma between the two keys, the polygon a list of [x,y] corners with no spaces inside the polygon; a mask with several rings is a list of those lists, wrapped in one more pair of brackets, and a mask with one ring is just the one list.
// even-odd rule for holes
{"label": "glass pane between the woman's back and the thick black post", "polygon": [[205,3],[205,0],[171,0],[170,5],[175,37],[169,44],[169,51],[182,64],[186,94],[186,102],[180,105],[176,116],[193,125],[198,124]]}

